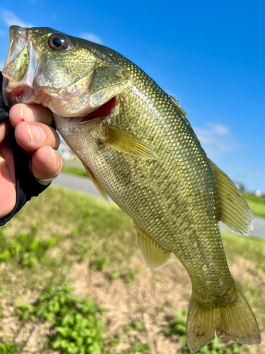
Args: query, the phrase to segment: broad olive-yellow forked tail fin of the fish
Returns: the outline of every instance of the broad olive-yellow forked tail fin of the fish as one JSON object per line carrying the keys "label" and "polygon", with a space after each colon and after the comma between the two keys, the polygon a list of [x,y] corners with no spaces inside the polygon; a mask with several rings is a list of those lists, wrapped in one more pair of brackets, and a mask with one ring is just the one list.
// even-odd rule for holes
{"label": "broad olive-yellow forked tail fin of the fish", "polygon": [[245,344],[261,342],[259,326],[247,299],[235,282],[236,300],[209,308],[199,304],[192,296],[187,318],[187,342],[196,352],[213,341],[215,332],[225,341]]}

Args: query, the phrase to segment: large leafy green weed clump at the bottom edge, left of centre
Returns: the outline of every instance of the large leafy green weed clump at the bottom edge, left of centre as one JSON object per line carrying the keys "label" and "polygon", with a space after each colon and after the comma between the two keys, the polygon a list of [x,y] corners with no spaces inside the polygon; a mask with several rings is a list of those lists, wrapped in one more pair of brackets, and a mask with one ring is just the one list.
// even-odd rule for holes
{"label": "large leafy green weed clump at the bottom edge, left of centre", "polygon": [[[55,295],[54,295],[55,294]],[[64,354],[100,354],[104,344],[102,308],[90,297],[80,299],[73,288],[64,286],[45,292],[33,305],[20,304],[16,314],[22,320],[51,323],[54,334],[48,336],[48,346]]]}

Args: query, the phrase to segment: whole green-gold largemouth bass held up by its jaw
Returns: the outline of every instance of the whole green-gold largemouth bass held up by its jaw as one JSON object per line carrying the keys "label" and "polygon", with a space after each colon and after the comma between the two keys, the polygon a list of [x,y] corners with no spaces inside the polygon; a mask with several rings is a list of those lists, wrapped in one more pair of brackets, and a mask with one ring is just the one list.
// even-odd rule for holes
{"label": "whole green-gold largemouth bass held up by its jaw", "polygon": [[109,202],[134,221],[149,268],[170,254],[192,282],[187,343],[261,342],[232,278],[218,222],[249,235],[253,215],[231,179],[208,159],[179,102],[118,52],[51,28],[11,26],[4,102],[52,110],[58,132]]}

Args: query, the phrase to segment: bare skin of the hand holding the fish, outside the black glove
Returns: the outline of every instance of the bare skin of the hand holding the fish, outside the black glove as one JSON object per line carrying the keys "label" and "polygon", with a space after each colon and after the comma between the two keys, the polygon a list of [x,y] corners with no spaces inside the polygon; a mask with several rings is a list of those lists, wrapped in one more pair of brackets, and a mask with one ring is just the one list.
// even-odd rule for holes
{"label": "bare skin of the hand holding the fish, outside the black glove", "polygon": [[[9,120],[15,128],[16,142],[30,159],[30,171],[35,178],[54,178],[61,171],[59,135],[50,127],[52,113],[42,105],[13,105]],[[6,137],[9,123],[0,124],[0,218],[8,215],[16,205],[16,177],[13,152]],[[40,182],[45,184],[45,182]],[[48,182],[49,183],[49,182]]]}

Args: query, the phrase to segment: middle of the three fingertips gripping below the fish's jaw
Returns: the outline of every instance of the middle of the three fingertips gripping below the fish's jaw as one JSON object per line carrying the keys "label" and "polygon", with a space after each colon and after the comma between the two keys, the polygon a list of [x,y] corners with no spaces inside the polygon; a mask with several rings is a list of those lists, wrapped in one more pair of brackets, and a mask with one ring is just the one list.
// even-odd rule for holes
{"label": "middle of the three fingertips gripping below the fish's jaw", "polygon": [[20,122],[15,129],[15,137],[20,147],[28,152],[47,145],[58,149],[60,144],[59,135],[52,127],[36,122]]}

